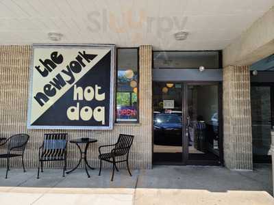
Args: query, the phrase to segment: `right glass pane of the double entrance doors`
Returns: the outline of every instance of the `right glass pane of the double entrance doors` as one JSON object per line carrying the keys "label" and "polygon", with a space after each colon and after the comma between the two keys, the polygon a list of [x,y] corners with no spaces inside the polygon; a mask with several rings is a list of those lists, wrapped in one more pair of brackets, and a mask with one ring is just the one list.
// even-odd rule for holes
{"label": "right glass pane of the double entrance doors", "polygon": [[219,93],[219,84],[216,83],[187,85],[187,158],[190,164],[221,163]]}

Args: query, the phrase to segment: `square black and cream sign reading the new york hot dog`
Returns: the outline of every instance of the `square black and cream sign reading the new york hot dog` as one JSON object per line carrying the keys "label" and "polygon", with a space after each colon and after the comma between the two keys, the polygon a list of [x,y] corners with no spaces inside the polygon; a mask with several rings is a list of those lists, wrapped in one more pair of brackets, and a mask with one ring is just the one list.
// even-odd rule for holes
{"label": "square black and cream sign reading the new york hot dog", "polygon": [[28,128],[111,129],[114,46],[32,48]]}

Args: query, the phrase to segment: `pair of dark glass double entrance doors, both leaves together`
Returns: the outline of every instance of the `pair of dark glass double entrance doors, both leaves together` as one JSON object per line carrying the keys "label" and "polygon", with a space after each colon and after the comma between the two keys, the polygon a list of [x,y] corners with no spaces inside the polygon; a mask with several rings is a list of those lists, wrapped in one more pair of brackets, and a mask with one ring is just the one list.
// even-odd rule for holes
{"label": "pair of dark glass double entrance doors, both leaves together", "polygon": [[219,88],[153,82],[153,163],[220,164]]}

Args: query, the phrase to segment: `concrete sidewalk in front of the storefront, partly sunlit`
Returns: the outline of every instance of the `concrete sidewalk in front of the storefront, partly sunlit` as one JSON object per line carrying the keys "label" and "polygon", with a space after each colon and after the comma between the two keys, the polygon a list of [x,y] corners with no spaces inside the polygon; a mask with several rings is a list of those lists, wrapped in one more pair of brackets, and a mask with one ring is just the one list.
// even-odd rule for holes
{"label": "concrete sidewalk in front of the storefront, partly sunlit", "polygon": [[154,166],[122,169],[110,182],[110,170],[84,169],[62,177],[61,169],[12,169],[5,179],[0,169],[0,204],[274,204],[271,166],[253,172],[234,172],[224,167]]}

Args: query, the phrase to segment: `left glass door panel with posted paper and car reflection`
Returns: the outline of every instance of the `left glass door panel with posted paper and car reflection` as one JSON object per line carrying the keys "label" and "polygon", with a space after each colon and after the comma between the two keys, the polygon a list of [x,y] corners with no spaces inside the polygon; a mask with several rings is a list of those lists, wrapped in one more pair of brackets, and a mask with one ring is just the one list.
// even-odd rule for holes
{"label": "left glass door panel with posted paper and car reflection", "polygon": [[182,83],[153,83],[153,162],[183,161]]}

